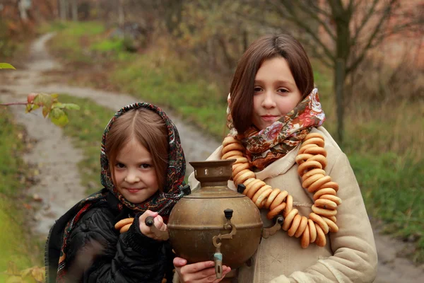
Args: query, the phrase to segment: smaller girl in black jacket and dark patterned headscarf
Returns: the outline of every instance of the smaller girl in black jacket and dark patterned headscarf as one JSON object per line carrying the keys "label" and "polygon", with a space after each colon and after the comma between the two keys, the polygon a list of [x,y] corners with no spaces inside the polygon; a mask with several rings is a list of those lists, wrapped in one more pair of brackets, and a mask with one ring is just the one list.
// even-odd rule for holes
{"label": "smaller girl in black jacket and dark patterned headscarf", "polygon": [[[182,197],[185,160],[177,128],[154,105],[127,105],[105,129],[100,161],[104,188],[78,202],[49,233],[47,282],[162,282],[165,272],[172,274],[170,248],[155,240],[145,219],[153,216],[165,231]],[[117,224],[128,217],[134,223]]]}

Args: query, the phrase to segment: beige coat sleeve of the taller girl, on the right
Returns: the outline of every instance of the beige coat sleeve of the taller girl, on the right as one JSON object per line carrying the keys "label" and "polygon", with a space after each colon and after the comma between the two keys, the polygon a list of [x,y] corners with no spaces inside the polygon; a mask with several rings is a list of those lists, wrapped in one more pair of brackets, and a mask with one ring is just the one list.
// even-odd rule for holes
{"label": "beige coat sleeve of the taller girl, on the right", "polygon": [[373,282],[377,274],[377,250],[358,182],[346,154],[340,154],[329,175],[339,185],[342,204],[337,208],[338,232],[330,233],[334,255],[306,270],[280,276],[271,283]]}

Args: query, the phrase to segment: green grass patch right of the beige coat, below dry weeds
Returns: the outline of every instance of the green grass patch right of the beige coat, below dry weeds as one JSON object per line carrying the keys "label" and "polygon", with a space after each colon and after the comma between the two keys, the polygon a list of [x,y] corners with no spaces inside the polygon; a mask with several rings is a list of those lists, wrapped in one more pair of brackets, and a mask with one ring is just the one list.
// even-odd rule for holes
{"label": "green grass patch right of the beige coat, below dry weeds", "polygon": [[351,154],[349,160],[360,183],[367,212],[384,221],[384,231],[416,242],[412,258],[424,261],[424,161],[399,158],[393,152]]}

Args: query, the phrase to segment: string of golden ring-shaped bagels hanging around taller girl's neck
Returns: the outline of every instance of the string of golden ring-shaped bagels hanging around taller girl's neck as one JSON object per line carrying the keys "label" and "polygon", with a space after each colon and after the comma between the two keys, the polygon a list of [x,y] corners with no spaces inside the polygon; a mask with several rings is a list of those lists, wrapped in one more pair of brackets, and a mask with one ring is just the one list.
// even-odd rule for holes
{"label": "string of golden ring-shaped bagels hanging around taller girl's neck", "polygon": [[302,248],[307,248],[310,243],[325,246],[326,234],[338,231],[336,214],[341,199],[337,197],[338,184],[331,181],[331,177],[324,171],[327,164],[324,137],[317,133],[307,134],[295,158],[302,187],[314,193],[314,204],[309,217],[301,216],[298,209],[293,208],[293,197],[286,190],[273,188],[257,179],[244,152],[245,147],[240,141],[232,136],[225,137],[221,159],[236,159],[232,166],[235,186],[245,185],[243,194],[259,209],[269,209],[266,215],[268,219],[283,212],[284,222],[281,228],[287,231],[288,236],[300,238]]}

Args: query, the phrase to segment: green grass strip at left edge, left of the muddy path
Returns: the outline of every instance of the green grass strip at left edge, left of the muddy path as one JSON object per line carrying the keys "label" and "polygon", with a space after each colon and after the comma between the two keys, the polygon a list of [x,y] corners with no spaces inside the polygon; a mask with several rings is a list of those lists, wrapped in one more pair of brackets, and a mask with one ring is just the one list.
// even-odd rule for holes
{"label": "green grass strip at left edge, left of the muddy path", "polygon": [[25,228],[23,200],[25,163],[20,155],[25,148],[23,128],[16,125],[8,109],[0,107],[0,282],[6,282],[9,262],[18,270],[42,265],[39,243],[32,240]]}

